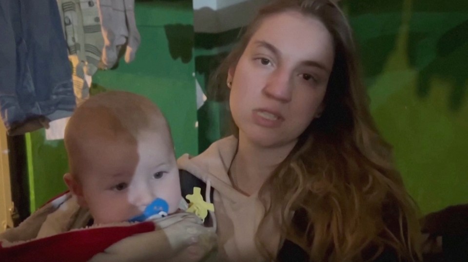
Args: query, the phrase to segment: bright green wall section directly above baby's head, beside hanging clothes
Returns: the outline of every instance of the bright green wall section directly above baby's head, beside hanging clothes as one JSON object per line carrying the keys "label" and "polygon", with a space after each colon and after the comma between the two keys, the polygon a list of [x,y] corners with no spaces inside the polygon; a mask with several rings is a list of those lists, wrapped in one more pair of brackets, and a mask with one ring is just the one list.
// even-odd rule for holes
{"label": "bright green wall section directly above baby's head, beside hanging clothes", "polygon": [[98,71],[93,81],[154,101],[171,126],[176,155],[198,152],[194,32],[191,0],[137,2],[141,45],[137,59],[116,70]]}

